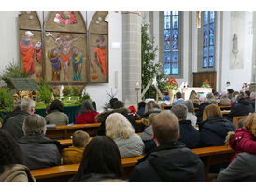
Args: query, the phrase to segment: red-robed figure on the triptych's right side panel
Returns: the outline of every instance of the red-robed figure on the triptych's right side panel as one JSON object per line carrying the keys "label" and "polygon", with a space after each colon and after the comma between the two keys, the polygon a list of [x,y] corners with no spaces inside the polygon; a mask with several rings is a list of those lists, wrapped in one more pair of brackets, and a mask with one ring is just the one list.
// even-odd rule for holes
{"label": "red-robed figure on the triptych's right side panel", "polygon": [[96,48],[94,48],[95,58],[91,61],[91,66],[93,69],[92,72],[95,73],[96,69],[94,65],[97,64],[100,67],[105,79],[107,79],[107,66],[106,66],[107,45],[105,45],[104,41],[105,41],[104,36],[99,35],[96,40],[98,45]]}

